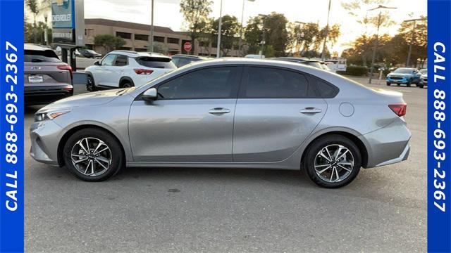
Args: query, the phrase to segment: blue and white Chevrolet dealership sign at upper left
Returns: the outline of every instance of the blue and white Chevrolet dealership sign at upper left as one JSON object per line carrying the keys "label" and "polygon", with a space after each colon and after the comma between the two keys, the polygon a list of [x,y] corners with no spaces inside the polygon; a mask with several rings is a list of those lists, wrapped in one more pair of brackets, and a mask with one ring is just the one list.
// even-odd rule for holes
{"label": "blue and white Chevrolet dealership sign at upper left", "polygon": [[52,0],[51,24],[54,44],[85,46],[85,12],[83,0]]}

